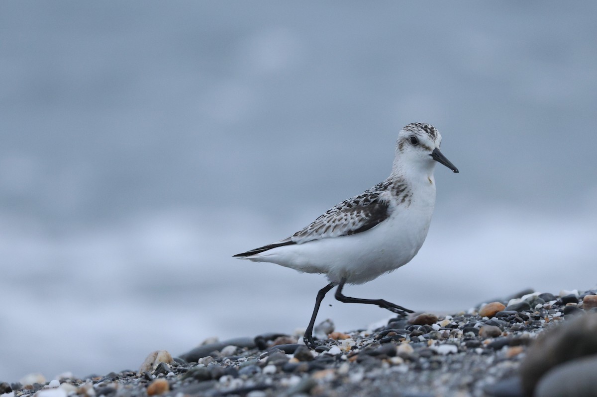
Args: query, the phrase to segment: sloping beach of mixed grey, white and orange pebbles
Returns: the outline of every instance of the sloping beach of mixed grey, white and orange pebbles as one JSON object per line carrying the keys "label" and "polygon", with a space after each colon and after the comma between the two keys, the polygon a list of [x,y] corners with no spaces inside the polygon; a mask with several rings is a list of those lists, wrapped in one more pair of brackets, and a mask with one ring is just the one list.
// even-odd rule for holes
{"label": "sloping beach of mixed grey, white and orange pebbles", "polygon": [[101,376],[0,379],[0,397],[594,396],[596,291],[525,290],[374,329],[325,320],[315,351],[300,332],[210,339]]}

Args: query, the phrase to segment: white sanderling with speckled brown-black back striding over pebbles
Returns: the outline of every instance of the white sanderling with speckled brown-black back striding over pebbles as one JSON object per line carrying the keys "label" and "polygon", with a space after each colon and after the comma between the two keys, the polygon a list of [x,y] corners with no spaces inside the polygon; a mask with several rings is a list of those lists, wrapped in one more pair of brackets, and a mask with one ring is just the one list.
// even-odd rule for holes
{"label": "white sanderling with speckled brown-black back striding over pebbles", "polygon": [[397,314],[413,311],[383,299],[342,294],[344,284],[362,284],[410,262],[427,236],[435,206],[435,162],[458,169],[439,151],[442,137],[426,123],[411,123],[398,134],[392,173],[383,182],[327,210],[284,240],[234,255],[272,262],[300,272],[325,274],[304,343],[315,347],[313,325],[319,305],[334,286],[340,302],[378,305]]}

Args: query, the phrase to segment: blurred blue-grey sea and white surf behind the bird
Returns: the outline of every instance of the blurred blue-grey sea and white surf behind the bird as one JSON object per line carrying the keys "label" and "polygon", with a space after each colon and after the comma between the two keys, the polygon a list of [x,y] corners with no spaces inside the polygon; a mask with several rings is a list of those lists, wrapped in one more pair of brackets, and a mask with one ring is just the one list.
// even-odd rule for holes
{"label": "blurred blue-grey sea and white surf behind the bird", "polygon": [[[235,253],[389,175],[427,241],[347,294],[458,311],[597,284],[597,2],[0,2],[0,380],[305,327],[321,275]],[[331,304],[332,306],[329,306]],[[324,301],[340,330],[390,313]]]}

